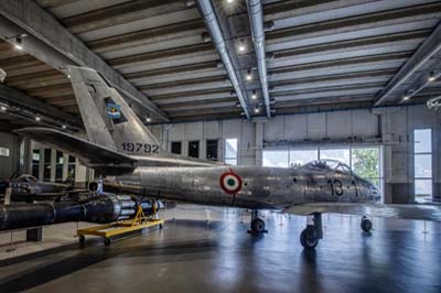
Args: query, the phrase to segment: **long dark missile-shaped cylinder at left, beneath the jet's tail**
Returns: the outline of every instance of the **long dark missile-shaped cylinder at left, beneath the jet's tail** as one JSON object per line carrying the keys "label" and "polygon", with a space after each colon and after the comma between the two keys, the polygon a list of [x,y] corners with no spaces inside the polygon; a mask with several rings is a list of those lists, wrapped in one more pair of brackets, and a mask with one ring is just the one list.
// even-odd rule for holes
{"label": "long dark missile-shaped cylinder at left, beneath the jet's tail", "polygon": [[138,205],[152,213],[152,204],[125,195],[99,195],[82,203],[36,203],[0,206],[0,230],[45,226],[66,221],[107,224],[132,218]]}

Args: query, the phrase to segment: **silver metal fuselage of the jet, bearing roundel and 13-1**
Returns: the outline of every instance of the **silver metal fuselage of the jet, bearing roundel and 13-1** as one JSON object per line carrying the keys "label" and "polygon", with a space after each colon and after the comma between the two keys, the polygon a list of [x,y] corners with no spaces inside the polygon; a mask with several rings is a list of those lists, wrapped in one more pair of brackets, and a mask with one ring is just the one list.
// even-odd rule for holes
{"label": "silver metal fuselage of the jet, bearing roundel and 13-1", "polygon": [[[227,193],[220,177],[233,172],[241,180],[237,193]],[[138,185],[139,193],[162,199],[250,209],[282,209],[292,205],[375,203],[375,186],[355,174],[306,167],[260,166],[138,167],[118,177],[123,185]]]}

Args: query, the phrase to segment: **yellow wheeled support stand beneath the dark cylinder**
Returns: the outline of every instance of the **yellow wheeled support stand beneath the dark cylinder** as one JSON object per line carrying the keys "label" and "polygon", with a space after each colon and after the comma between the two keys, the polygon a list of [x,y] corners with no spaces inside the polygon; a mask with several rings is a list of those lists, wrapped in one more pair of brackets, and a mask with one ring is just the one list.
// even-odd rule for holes
{"label": "yellow wheeled support stand beneath the dark cylinder", "polygon": [[78,229],[76,234],[78,235],[79,243],[85,242],[86,236],[99,236],[103,237],[104,245],[109,246],[110,237],[112,236],[142,230],[153,226],[159,226],[159,228],[162,229],[163,224],[164,220],[157,219],[157,204],[154,203],[152,217],[147,217],[141,206],[138,206],[138,210],[133,219]]}

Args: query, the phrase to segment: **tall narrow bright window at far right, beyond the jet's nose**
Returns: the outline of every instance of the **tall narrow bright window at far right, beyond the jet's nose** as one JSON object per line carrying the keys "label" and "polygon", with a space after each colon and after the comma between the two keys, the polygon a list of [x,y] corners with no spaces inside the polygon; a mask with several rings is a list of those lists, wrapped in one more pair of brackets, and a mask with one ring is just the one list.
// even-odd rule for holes
{"label": "tall narrow bright window at far right, beyond the jet's nose", "polygon": [[413,130],[415,199],[432,199],[432,130]]}

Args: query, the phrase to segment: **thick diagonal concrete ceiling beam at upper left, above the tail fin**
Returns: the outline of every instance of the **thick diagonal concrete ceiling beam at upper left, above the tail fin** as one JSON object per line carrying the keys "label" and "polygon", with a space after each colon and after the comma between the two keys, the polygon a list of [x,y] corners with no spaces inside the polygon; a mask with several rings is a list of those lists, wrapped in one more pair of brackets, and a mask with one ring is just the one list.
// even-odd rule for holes
{"label": "thick diagonal concrete ceiling beam at upper left, above the tail fin", "polygon": [[[106,76],[125,97],[137,104],[138,107],[133,109],[138,115],[146,115],[141,110],[144,108],[159,119],[169,120],[157,105],[34,1],[0,1],[0,15],[1,37],[28,33],[25,51],[29,54],[58,70],[65,68],[66,65],[92,67]],[[10,39],[6,41],[13,42]]]}

